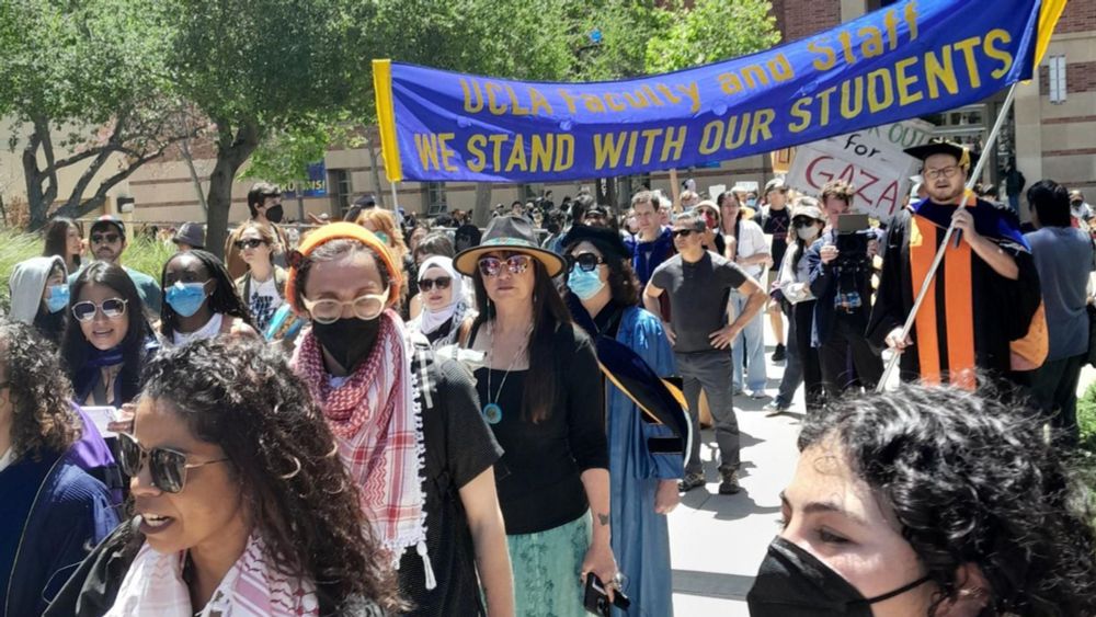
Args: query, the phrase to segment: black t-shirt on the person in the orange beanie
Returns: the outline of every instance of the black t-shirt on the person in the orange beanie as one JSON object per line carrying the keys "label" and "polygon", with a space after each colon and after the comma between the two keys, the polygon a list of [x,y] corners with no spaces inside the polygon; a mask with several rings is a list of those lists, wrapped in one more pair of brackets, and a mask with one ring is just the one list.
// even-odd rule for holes
{"label": "black t-shirt on the person in the orange beanie", "polygon": [[437,586],[426,590],[422,558],[410,548],[400,560],[400,594],[414,605],[408,615],[484,615],[475,545],[458,491],[494,465],[502,448],[480,415],[468,372],[453,361],[433,358],[418,350],[413,370],[422,380],[426,364],[431,381],[425,384],[430,401],[420,395],[419,402],[426,450],[426,548]]}

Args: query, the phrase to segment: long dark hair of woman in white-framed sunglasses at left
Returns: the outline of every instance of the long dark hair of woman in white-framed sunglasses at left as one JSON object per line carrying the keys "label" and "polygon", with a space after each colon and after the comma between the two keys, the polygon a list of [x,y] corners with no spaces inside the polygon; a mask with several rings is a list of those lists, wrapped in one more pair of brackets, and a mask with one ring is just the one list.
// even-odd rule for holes
{"label": "long dark hair of woman in white-framed sunglasses at left", "polygon": [[[118,345],[122,347],[122,372],[118,375],[118,380],[121,381],[122,400],[130,401],[140,392],[140,369],[145,358],[145,344],[152,336],[152,327],[145,319],[145,305],[141,302],[133,279],[129,278],[125,270],[117,265],[96,261],[80,271],[70,286],[70,308],[80,301],[80,294],[85,285],[110,287],[126,301],[128,329],[125,339]],[[78,376],[88,364],[92,346],[84,339],[80,322],[77,321],[72,311],[67,310],[66,312],[68,313],[68,322],[65,324],[65,334],[61,340],[61,357],[68,366],[69,378],[76,384]],[[77,388],[79,389],[79,387],[78,385]]]}

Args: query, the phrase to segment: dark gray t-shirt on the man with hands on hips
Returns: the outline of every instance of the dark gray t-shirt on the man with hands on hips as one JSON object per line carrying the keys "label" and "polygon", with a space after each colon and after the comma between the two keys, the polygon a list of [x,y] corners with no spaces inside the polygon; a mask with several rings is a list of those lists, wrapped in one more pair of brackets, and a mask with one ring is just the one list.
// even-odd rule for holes
{"label": "dark gray t-shirt on the man with hands on hips", "polygon": [[674,351],[712,351],[708,335],[727,325],[728,295],[745,282],[742,268],[710,251],[696,263],[677,254],[655,268],[651,284],[670,294],[670,324],[677,334]]}

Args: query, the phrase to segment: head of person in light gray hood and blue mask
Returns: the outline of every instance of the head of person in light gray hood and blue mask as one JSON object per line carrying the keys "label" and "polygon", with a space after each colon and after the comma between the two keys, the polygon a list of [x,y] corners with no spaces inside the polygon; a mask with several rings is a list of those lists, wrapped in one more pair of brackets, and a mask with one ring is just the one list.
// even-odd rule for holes
{"label": "head of person in light gray hood and blue mask", "polygon": [[42,338],[60,344],[68,308],[68,272],[59,256],[31,258],[15,264],[8,279],[11,318],[33,324]]}

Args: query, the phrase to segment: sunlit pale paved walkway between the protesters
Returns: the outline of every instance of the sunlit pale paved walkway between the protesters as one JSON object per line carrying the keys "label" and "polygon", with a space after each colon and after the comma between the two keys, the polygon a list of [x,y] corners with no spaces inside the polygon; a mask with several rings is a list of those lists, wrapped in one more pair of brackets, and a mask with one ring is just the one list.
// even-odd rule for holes
{"label": "sunlit pale paved walkway between the protesters", "polygon": [[[765,319],[766,357],[773,336]],[[783,363],[768,367],[768,392],[776,393]],[[1077,395],[1096,381],[1096,370],[1081,374]],[[670,546],[674,570],[674,612],[677,617],[747,617],[745,596],[765,550],[778,533],[780,491],[791,480],[798,452],[796,437],[802,419],[802,388],[791,412],[765,418],[768,400],[735,397],[734,409],[742,433],[742,492],[720,495],[717,452],[712,432],[704,431],[700,456],[708,484],[683,495],[670,515]],[[662,617],[647,615],[642,617]]]}

